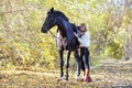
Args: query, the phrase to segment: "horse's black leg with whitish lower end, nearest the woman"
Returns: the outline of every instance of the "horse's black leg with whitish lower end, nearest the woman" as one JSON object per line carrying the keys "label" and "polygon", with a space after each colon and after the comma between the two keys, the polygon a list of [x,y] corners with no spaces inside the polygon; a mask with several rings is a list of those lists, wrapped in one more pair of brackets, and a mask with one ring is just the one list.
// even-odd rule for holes
{"label": "horse's black leg with whitish lower end, nearest the woman", "polygon": [[74,56],[77,62],[77,79],[78,79],[80,75],[80,58],[79,58],[78,50],[74,51]]}

